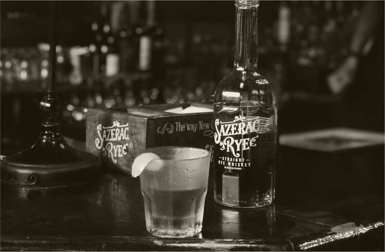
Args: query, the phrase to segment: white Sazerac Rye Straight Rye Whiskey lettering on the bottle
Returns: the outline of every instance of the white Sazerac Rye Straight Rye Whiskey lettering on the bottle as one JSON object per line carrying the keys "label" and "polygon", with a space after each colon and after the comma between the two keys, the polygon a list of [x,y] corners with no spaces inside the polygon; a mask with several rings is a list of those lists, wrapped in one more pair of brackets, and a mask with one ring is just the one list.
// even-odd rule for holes
{"label": "white Sazerac Rye Straight Rye Whiskey lettering on the bottle", "polygon": [[[251,159],[243,155],[243,151],[261,149],[264,157],[275,156],[275,141],[266,142],[269,129],[268,117],[235,116],[233,121],[220,122],[215,120],[214,141],[219,148],[217,164],[230,170],[244,170],[251,167]],[[262,137],[262,139],[260,139]],[[270,143],[271,142],[271,143]],[[222,155],[221,155],[222,154]]]}

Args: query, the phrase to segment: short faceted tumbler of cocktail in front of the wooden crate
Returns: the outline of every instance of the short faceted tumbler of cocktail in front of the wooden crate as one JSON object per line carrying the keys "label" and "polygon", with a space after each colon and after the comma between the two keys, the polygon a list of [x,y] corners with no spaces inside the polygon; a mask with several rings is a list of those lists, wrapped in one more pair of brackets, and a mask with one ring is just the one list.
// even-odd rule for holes
{"label": "short faceted tumbler of cocktail in front of the wooden crate", "polygon": [[210,153],[189,147],[159,147],[140,175],[147,230],[157,237],[191,237],[202,230]]}

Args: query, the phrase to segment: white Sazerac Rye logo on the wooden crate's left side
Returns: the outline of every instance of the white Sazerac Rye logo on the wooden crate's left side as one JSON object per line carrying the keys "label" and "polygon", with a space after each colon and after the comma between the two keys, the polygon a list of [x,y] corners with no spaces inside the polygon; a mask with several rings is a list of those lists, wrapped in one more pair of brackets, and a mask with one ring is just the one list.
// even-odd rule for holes
{"label": "white Sazerac Rye logo on the wooden crate's left side", "polygon": [[112,126],[105,127],[102,124],[97,125],[97,134],[95,139],[96,148],[103,151],[103,156],[108,156],[116,164],[117,158],[127,155],[128,150],[132,149],[133,144],[129,142],[128,123],[120,125],[114,121]]}

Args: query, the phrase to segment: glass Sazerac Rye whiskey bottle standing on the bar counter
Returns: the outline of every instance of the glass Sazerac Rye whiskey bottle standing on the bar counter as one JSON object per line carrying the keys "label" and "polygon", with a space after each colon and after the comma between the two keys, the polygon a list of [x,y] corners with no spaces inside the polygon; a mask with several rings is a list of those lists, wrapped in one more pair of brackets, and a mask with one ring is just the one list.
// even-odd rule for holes
{"label": "glass Sazerac Rye whiskey bottle standing on the bar counter", "polygon": [[233,71],[214,92],[214,198],[231,207],[270,205],[275,193],[277,110],[257,70],[259,1],[235,1]]}

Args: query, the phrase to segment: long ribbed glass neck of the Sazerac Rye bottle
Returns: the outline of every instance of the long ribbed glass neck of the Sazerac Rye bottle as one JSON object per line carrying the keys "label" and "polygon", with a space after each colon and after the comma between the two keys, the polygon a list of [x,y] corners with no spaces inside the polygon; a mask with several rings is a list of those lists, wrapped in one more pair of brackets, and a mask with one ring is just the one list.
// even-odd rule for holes
{"label": "long ribbed glass neck of the Sazerac Rye bottle", "polygon": [[[251,2],[251,1],[250,1]],[[234,68],[256,71],[258,63],[258,5],[236,6]],[[243,68],[243,69],[242,69]]]}

